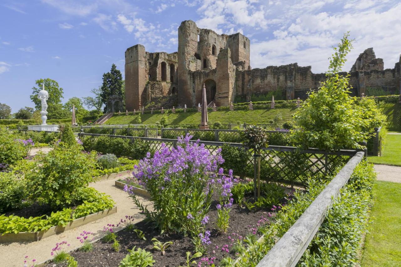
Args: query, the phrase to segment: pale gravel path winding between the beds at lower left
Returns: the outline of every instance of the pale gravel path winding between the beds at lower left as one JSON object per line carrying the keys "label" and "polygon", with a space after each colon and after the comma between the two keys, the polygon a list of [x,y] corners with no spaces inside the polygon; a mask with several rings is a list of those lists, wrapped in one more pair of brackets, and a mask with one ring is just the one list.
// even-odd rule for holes
{"label": "pale gravel path winding between the beds at lower left", "polygon": [[[53,235],[47,237],[41,241],[36,242],[14,242],[14,243],[4,243],[0,244],[0,266],[2,267],[14,267],[14,266],[24,266],[24,257],[28,255],[28,260],[36,259],[36,263],[42,263],[48,259],[51,259],[50,255],[51,249],[55,247],[57,242],[67,241],[70,243],[70,249],[80,247],[81,243],[77,240],[77,237],[82,231],[91,231],[95,233],[95,239],[104,236],[103,226],[108,223],[117,224],[121,218],[125,218],[126,215],[132,215],[136,218],[135,223],[144,218],[143,215],[139,214],[139,209],[132,202],[128,195],[123,190],[114,186],[114,181],[121,178],[121,176],[110,179],[103,180],[96,183],[90,184],[91,187],[96,188],[99,192],[104,192],[110,195],[116,202],[117,212],[96,220],[87,225],[82,225],[75,229],[66,231],[59,235]],[[142,199],[144,200],[144,199]],[[144,204],[150,204],[149,201],[144,200]],[[115,228],[116,230],[124,228],[120,226]]]}

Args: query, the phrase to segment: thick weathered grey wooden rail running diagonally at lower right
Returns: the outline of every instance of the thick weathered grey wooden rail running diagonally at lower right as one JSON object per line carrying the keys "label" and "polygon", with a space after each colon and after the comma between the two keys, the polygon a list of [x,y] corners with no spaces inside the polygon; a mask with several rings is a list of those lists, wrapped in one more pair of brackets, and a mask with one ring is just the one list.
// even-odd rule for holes
{"label": "thick weathered grey wooden rail running diagonally at lower right", "polygon": [[320,192],[294,225],[288,229],[267,255],[257,264],[257,267],[292,267],[297,265],[322,224],[327,210],[332,206],[333,201],[340,194],[341,188],[348,182],[355,167],[364,156],[364,152],[356,152],[348,160],[345,166],[326,188]]}

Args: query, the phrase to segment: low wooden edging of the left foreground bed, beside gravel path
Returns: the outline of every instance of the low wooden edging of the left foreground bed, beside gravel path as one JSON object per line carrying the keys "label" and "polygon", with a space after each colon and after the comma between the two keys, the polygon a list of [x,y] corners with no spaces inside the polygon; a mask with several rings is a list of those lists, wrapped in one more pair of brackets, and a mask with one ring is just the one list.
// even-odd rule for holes
{"label": "low wooden edging of the left foreground bed, beside gravel path", "polygon": [[39,241],[46,237],[50,237],[52,235],[56,235],[77,228],[81,225],[86,225],[87,223],[91,223],[115,212],[117,212],[117,206],[113,206],[113,208],[110,208],[108,210],[102,210],[96,213],[89,214],[87,216],[83,216],[81,218],[77,218],[69,222],[65,227],[57,225],[51,227],[49,230],[42,230],[38,232],[7,233],[4,235],[0,235],[0,243]]}

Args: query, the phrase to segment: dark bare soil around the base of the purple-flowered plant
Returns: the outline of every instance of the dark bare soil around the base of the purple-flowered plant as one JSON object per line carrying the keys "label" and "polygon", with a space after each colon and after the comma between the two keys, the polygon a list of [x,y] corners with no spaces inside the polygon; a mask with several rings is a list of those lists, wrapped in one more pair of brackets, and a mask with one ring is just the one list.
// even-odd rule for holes
{"label": "dark bare soil around the base of the purple-flowered plant", "polygon": [[[217,201],[214,201],[211,207],[215,207],[218,204]],[[232,251],[231,246],[235,243],[234,241],[230,241],[229,237],[234,238],[237,237],[233,235],[233,233],[237,235],[241,235],[245,237],[249,233],[252,233],[252,228],[257,227],[258,221],[264,217],[267,217],[267,210],[257,210],[249,212],[246,208],[243,209],[239,207],[237,204],[233,205],[233,209],[230,212],[230,229],[227,234],[219,234],[217,233],[215,227],[215,221],[217,218],[217,210],[216,208],[211,209],[209,212],[209,223],[207,224],[207,230],[211,231],[211,245],[207,248],[207,253],[205,253],[202,257],[216,257],[214,263],[217,265],[221,259],[224,257],[230,256],[235,258],[236,255]],[[267,217],[269,218],[269,217]],[[273,220],[269,218],[267,223]],[[186,261],[186,251],[190,251],[194,253],[194,245],[191,242],[189,237],[183,237],[180,234],[163,234],[160,235],[159,231],[155,231],[152,228],[151,223],[140,222],[136,224],[136,228],[140,229],[145,233],[146,241],[139,239],[136,233],[129,231],[128,229],[124,229],[117,233],[118,241],[121,245],[121,249],[119,252],[115,252],[111,248],[111,243],[104,243],[103,241],[98,241],[94,243],[94,250],[92,252],[73,252],[71,255],[75,257],[78,261],[79,266],[119,266],[120,261],[126,257],[128,251],[127,249],[132,249],[134,246],[136,248],[146,249],[146,251],[150,251],[153,253],[153,259],[156,261],[154,266],[182,266],[185,265]],[[259,235],[257,238],[259,238]],[[166,250],[166,254],[163,256],[160,251],[156,251],[153,248],[153,243],[151,241],[152,238],[156,238],[162,243],[166,241],[172,241],[173,244],[168,247]],[[224,245],[229,245],[230,252],[223,252],[222,247]],[[217,247],[218,248],[217,248]],[[196,259],[198,262],[202,257]],[[49,263],[47,267],[52,266],[65,266],[63,264],[54,265],[53,263]]]}

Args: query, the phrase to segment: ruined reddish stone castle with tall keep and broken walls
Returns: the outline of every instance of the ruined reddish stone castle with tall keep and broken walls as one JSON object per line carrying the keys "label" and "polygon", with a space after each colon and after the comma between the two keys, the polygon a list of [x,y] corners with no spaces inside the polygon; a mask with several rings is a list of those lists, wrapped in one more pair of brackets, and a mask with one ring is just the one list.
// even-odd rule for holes
{"label": "ruined reddish stone castle with tall keep and broken walls", "polygon": [[[228,106],[236,96],[250,101],[253,94],[277,89],[286,99],[305,99],[325,79],[324,73],[314,74],[311,66],[297,63],[251,69],[249,51],[250,40],[243,34],[217,34],[198,28],[192,20],[183,21],[178,28],[178,52],[150,53],[141,44],[126,50],[126,108],[138,110],[151,102],[165,108],[195,107],[201,103],[204,83],[207,102],[217,106]],[[352,94],[366,93],[369,87],[398,93],[400,65],[401,57],[394,69],[384,69],[373,48],[365,50],[350,71]]]}

